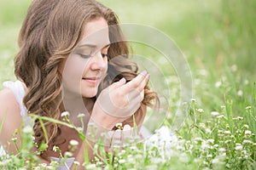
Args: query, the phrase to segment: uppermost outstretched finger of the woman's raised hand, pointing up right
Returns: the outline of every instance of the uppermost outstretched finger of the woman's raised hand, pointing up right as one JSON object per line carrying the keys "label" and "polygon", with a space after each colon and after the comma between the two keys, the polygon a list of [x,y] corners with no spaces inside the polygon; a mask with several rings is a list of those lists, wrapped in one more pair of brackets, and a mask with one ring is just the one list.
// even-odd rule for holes
{"label": "uppermost outstretched finger of the woman's raised hand, pointing up right", "polygon": [[146,82],[148,81],[148,77],[149,77],[148,71],[143,71],[139,75],[137,75],[137,77],[132,79],[130,82],[127,82],[121,88],[123,88],[122,90],[124,93],[129,93],[132,89],[138,88],[138,87],[140,87],[141,89],[146,85]]}

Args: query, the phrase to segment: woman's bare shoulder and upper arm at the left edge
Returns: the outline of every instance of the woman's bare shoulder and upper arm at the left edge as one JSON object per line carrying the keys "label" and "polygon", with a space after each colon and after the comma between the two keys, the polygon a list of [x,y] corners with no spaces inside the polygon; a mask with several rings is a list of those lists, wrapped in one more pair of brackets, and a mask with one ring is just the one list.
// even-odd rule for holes
{"label": "woman's bare shoulder and upper arm at the left edge", "polygon": [[[0,91],[0,123],[3,122],[0,133],[1,144],[7,144],[15,129],[19,129],[21,120],[20,106],[15,99],[15,95],[9,88],[4,88]],[[9,150],[13,151],[12,144],[9,145]]]}

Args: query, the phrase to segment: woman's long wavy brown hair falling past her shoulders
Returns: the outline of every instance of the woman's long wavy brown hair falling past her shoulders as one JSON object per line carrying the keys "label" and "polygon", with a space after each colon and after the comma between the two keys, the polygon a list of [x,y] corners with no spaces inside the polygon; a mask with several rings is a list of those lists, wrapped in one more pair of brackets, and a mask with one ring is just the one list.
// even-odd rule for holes
{"label": "woman's long wavy brown hair falling past her shoulders", "polygon": [[[27,93],[23,99],[29,113],[59,119],[61,115],[61,73],[58,66],[67,58],[81,41],[83,26],[96,17],[102,17],[108,26],[117,25],[117,16],[109,8],[94,0],[34,0],[28,8],[26,18],[20,30],[19,53],[15,58],[15,75],[25,82]],[[137,65],[129,59],[127,42],[116,42],[122,37],[117,26],[115,34],[109,33],[113,42],[108,49],[108,60],[115,56],[108,65],[108,77],[112,82],[125,77],[127,81],[137,76]],[[112,77],[112,71],[119,75]],[[148,88],[144,90],[143,105],[153,106],[156,94]],[[135,113],[136,122],[143,119],[142,107]],[[125,123],[132,126],[133,117]],[[53,122],[44,122],[49,139],[49,146],[54,144],[58,135],[58,126]],[[42,126],[34,124],[35,142],[45,141]]]}

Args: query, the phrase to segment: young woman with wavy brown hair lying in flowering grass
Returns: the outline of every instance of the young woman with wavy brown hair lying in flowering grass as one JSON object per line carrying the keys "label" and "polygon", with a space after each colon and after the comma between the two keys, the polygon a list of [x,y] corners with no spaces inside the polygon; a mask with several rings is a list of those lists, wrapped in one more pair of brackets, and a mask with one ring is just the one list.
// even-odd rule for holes
{"label": "young woman with wavy brown hair lying in flowering grass", "polygon": [[[74,117],[84,113],[84,133],[89,122],[108,131],[118,122],[126,127],[132,127],[134,119],[138,127],[143,123],[146,107],[156,96],[148,88],[148,72],[137,73],[127,43],[119,41],[117,24],[113,11],[94,0],[32,2],[20,30],[18,80],[4,82],[6,88],[0,92],[1,144],[8,145],[30,114],[62,120],[61,113],[68,111],[73,124],[79,124]],[[53,146],[64,154],[72,139],[79,145],[67,167],[75,159],[83,162],[84,149],[94,157],[73,128],[54,122],[44,122],[44,127],[47,137],[40,122],[34,122],[35,142],[49,146],[40,155],[43,162],[60,156]],[[9,144],[8,151],[15,152],[15,144]]]}

